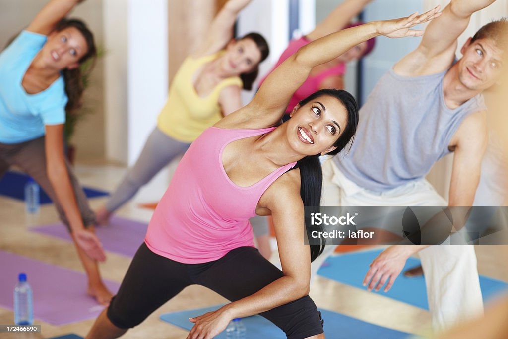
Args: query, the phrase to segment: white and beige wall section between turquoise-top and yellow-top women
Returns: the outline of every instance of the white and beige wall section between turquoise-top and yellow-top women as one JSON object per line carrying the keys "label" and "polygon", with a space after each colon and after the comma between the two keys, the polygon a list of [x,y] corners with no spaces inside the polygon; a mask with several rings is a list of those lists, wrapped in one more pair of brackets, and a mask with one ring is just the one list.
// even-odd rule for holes
{"label": "white and beige wall section between turquoise-top and yellow-top women", "polygon": [[134,164],[168,93],[165,0],[104,0],[106,157]]}

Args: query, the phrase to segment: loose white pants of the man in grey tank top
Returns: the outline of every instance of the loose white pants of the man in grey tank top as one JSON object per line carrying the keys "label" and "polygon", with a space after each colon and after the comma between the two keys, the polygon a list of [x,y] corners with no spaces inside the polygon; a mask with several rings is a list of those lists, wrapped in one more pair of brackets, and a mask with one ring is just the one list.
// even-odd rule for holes
{"label": "loose white pants of the man in grey tank top", "polygon": [[[447,202],[425,179],[382,193],[363,189],[347,179],[329,159],[323,162],[322,206],[447,206]],[[311,279],[335,247],[325,246],[323,254],[311,263]],[[473,246],[429,246],[419,255],[435,330],[483,314]]]}

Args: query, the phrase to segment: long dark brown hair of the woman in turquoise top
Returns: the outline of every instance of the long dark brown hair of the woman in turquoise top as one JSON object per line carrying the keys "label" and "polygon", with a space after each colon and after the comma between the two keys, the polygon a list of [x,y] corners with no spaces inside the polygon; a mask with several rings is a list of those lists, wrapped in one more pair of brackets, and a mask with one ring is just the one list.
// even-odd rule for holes
{"label": "long dark brown hair of the woman in turquoise top", "polygon": [[[78,19],[63,19],[56,25],[55,30],[56,32],[60,32],[68,27],[74,27],[79,30],[79,32],[83,35],[88,48],[86,54],[78,60],[78,63],[81,65],[90,58],[93,58],[93,62],[94,58],[97,56],[97,47],[91,31],[83,21]],[[89,70],[91,70],[91,68],[92,67],[90,67]],[[80,67],[77,67],[72,70],[64,69],[61,73],[63,75],[63,80],[65,81],[66,95],[69,99],[66,106],[66,112],[68,115],[74,114],[74,112],[81,107],[81,97],[83,96],[84,90],[82,70]]]}

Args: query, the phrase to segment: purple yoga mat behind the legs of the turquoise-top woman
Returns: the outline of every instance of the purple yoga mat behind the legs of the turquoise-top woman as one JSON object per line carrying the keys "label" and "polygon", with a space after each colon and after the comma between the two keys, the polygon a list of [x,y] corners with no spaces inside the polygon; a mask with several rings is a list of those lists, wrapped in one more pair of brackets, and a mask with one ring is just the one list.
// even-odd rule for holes
{"label": "purple yoga mat behind the legs of the turquoise-top woman", "polygon": [[[96,227],[96,233],[107,251],[134,257],[145,238],[147,225],[120,217],[111,218],[109,225]],[[51,224],[30,229],[54,237],[72,241],[63,224]]]}

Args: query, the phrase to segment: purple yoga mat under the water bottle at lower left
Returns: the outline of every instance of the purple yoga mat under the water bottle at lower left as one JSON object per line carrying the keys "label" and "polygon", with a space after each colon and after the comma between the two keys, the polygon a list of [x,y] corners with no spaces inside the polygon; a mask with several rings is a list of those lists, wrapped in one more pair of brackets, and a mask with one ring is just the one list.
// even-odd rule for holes
{"label": "purple yoga mat under the water bottle at lower left", "polygon": [[[13,310],[18,274],[26,273],[28,284],[34,291],[36,323],[42,320],[53,325],[69,324],[96,318],[104,309],[86,294],[87,280],[83,273],[5,251],[0,251],[0,269],[0,306]],[[120,286],[110,281],[105,284],[113,294]]]}

